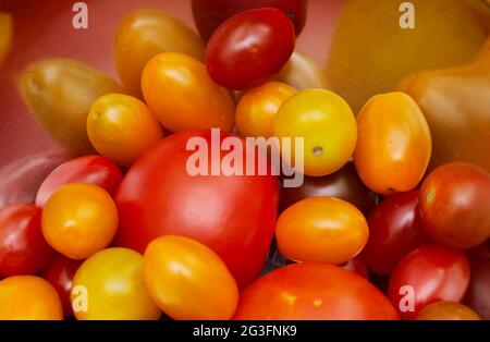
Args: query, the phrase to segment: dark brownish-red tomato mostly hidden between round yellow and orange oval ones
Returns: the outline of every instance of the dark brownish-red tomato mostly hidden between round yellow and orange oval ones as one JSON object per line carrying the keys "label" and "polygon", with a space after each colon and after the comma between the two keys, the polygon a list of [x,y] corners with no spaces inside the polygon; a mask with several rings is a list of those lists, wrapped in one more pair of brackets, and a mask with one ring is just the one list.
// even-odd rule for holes
{"label": "dark brownish-red tomato mostly hidden between round yellow and orange oval ones", "polygon": [[305,176],[299,187],[281,190],[281,209],[291,207],[298,200],[316,197],[338,197],[357,207],[364,215],[375,207],[377,195],[364,185],[353,162],[324,176]]}

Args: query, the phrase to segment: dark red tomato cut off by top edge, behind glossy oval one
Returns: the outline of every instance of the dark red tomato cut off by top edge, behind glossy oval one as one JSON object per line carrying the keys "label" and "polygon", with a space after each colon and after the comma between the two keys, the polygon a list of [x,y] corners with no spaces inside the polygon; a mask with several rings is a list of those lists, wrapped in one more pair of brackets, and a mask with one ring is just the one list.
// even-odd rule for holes
{"label": "dark red tomato cut off by top edge, behind glossy oval one", "polygon": [[192,5],[194,22],[206,41],[230,16],[258,8],[281,10],[293,22],[297,37],[305,26],[307,11],[307,0],[193,0]]}

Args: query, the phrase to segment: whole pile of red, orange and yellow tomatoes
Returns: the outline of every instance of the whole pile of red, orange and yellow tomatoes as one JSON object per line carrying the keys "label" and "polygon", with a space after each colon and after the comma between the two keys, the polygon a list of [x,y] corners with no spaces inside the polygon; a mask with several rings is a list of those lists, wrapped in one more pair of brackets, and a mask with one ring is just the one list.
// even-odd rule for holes
{"label": "whole pile of red, orange and yellow tomatoes", "polygon": [[[332,91],[274,78],[304,8],[235,12],[211,28],[196,17],[205,53],[192,33],[194,50],[138,50],[135,23],[161,14],[123,23],[123,87],[75,126],[98,155],[62,163],[34,204],[0,211],[0,319],[489,318],[490,174],[428,170],[430,130],[406,94],[355,115]],[[41,89],[42,74],[29,77]],[[270,170],[189,174],[189,142],[212,145],[211,129],[243,147],[303,138],[291,159],[303,184],[281,187]],[[206,151],[205,169],[229,151]],[[287,261],[261,274],[271,244]]]}

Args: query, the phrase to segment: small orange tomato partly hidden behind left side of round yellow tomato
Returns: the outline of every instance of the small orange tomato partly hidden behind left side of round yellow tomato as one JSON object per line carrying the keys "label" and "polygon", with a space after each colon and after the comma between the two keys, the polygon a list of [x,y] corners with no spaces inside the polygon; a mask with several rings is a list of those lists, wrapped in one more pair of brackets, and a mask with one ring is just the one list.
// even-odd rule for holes
{"label": "small orange tomato partly hidden behind left side of round yellow tomato", "polygon": [[279,107],[295,93],[294,88],[281,82],[268,82],[248,90],[236,106],[238,133],[243,136],[271,137]]}

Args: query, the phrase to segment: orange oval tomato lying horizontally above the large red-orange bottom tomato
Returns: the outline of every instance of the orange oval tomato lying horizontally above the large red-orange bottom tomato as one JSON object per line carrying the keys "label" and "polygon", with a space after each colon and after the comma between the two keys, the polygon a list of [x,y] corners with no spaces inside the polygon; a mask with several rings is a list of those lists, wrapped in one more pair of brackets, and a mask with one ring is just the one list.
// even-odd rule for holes
{"label": "orange oval tomato lying horizontally above the large red-orange bottom tomato", "polygon": [[311,197],[285,209],[278,219],[278,247],[287,259],[339,265],[366,245],[369,229],[363,213],[334,197]]}

